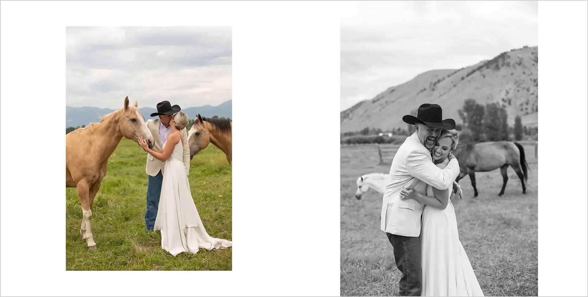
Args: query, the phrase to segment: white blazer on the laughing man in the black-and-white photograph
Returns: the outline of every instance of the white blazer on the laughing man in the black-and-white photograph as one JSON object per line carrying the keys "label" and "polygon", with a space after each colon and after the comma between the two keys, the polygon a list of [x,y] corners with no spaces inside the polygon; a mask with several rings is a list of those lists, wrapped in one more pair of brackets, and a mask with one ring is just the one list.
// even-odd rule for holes
{"label": "white blazer on the laughing man in the black-and-white photograph", "polygon": [[[457,174],[459,163],[456,158],[449,161],[444,169],[440,169],[433,164],[429,150],[420,143],[416,132],[406,137],[390,167],[392,181],[384,192],[380,229],[390,234],[418,237],[423,205],[414,199],[401,200],[402,187],[416,177],[439,190],[446,190],[452,186]],[[415,190],[426,194],[426,185],[418,183]]]}

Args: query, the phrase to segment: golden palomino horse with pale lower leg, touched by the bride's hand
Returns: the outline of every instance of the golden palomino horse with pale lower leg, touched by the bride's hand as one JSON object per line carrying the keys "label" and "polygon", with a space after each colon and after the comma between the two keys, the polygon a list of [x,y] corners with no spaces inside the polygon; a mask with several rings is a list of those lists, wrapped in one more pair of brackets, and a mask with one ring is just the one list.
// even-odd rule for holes
{"label": "golden palomino horse with pale lower leg, touched by the bride's hand", "polygon": [[139,113],[136,101],[129,106],[129,97],[125,98],[122,109],[103,117],[100,123],[91,123],[65,136],[65,187],[78,188],[83,213],[79,232],[91,249],[96,249],[90,227],[92,203],[106,175],[108,158],[122,137],[135,141],[143,137],[153,147],[145,117]]}

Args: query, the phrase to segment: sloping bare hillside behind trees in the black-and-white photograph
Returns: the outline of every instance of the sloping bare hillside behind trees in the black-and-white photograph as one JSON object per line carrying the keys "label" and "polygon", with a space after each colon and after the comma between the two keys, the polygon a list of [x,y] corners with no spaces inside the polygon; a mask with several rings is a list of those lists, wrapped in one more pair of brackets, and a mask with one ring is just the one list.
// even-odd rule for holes
{"label": "sloping bare hillside behind trees in the black-and-white photograph", "polygon": [[498,103],[523,125],[537,126],[537,46],[524,46],[504,52],[462,69],[430,70],[398,86],[391,86],[373,99],[364,100],[340,113],[340,131],[359,131],[365,127],[392,130],[406,128],[402,116],[423,103],[443,108],[443,118],[462,120],[457,110],[466,99],[477,103]]}

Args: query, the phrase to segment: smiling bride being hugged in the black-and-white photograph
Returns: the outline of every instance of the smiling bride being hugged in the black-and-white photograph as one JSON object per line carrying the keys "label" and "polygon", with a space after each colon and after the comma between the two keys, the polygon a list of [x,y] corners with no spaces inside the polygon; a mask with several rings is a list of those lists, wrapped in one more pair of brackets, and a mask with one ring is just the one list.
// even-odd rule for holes
{"label": "smiling bride being hugged in the black-and-white photograph", "polygon": [[[447,156],[457,147],[457,130],[443,130],[432,149],[433,162],[445,168]],[[419,181],[422,183],[422,181]],[[455,209],[449,200],[452,190],[427,185],[427,195],[407,187],[403,199],[425,204],[421,221],[421,296],[484,296],[457,233]],[[434,197],[433,197],[434,195]]]}

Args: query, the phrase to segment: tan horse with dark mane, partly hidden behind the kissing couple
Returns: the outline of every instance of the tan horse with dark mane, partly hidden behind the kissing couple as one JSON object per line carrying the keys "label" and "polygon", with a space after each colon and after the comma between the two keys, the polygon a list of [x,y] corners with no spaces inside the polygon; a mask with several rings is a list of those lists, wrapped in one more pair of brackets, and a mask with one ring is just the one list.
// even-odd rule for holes
{"label": "tan horse with dark mane, partly hidden behind the kissing couple", "polygon": [[212,142],[225,153],[226,160],[232,164],[232,128],[233,122],[228,119],[206,119],[198,114],[188,131],[190,160],[200,150],[205,149],[209,142]]}

